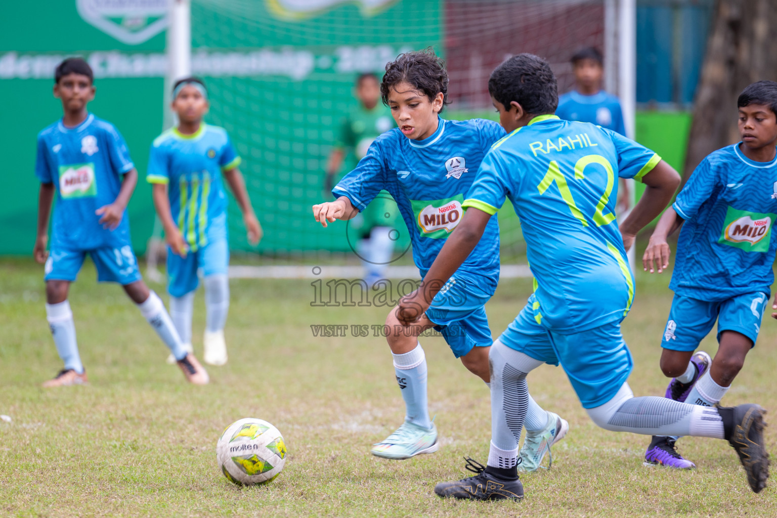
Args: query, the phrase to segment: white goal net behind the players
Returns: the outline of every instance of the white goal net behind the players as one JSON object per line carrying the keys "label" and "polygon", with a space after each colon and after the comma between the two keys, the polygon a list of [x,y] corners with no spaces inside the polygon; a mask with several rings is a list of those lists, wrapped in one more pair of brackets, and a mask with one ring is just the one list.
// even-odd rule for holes
{"label": "white goal net behind the players", "polygon": [[[569,60],[575,50],[594,46],[613,54],[605,3],[192,0],[192,73],[207,82],[207,122],[225,127],[242,156],[264,231],[260,245],[249,245],[233,200],[232,263],[358,264],[347,223],[323,229],[311,206],[329,200],[323,191],[326,161],[340,119],[357,103],[359,73],[380,73],[401,52],[434,47],[451,78],[452,104],[444,116],[496,120],[487,82],[506,57],[545,57],[559,78],[559,92],[566,92],[573,85]],[[503,263],[524,263],[517,217],[510,207],[499,217]],[[401,218],[397,225],[395,264],[412,266]],[[155,249],[149,247],[150,253]]]}

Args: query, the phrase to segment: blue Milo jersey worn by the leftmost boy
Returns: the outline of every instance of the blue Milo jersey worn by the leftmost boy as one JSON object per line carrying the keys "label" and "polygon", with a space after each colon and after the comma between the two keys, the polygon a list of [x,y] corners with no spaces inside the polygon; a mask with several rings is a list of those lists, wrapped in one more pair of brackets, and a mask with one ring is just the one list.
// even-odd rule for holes
{"label": "blue Milo jersey worn by the leftmost boy", "polygon": [[124,138],[91,113],[77,127],[58,121],[38,134],[35,176],[54,183],[57,202],[51,249],[121,248],[130,242],[127,214],[106,230],[95,211],[116,200],[124,173],[134,168]]}

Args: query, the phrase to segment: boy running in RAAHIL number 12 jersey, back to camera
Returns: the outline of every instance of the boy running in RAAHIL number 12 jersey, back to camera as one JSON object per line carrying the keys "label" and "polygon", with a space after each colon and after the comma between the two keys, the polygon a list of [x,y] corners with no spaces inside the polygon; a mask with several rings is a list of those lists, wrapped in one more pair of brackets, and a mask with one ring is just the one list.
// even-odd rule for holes
{"label": "boy running in RAAHIL number 12 jersey, back to camera", "polygon": [[[489,92],[510,134],[483,159],[462,204],[468,207],[462,223],[397,313],[409,324],[429,307],[441,283],[476,248],[505,196],[521,218],[535,294],[490,350],[487,466],[472,461],[469,468],[478,475],[442,482],[434,491],[460,499],[523,498],[516,464],[526,375],[542,363],[562,365],[588,415],[602,428],[729,440],[751,488],[761,491],[768,477],[761,407],[707,408],[635,398],[626,382],[632,358],[620,323],[632,303],[634,280],[625,251],[671,200],[680,181],[677,172],[614,131],[553,115],[556,78],[539,57],[519,54],[500,64],[489,79]],[[646,185],[620,229],[614,214],[616,176]]]}

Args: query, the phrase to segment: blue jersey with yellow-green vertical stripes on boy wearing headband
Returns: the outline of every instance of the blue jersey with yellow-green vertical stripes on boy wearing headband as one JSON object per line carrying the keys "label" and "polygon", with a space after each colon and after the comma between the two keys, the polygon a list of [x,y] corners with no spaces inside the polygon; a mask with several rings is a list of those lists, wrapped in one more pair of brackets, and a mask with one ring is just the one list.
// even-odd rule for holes
{"label": "blue jersey with yellow-green vertical stripes on boy wearing headband", "polygon": [[227,196],[221,172],[240,165],[224,128],[201,123],[197,133],[176,128],[156,137],[148,158],[149,183],[166,183],[172,220],[192,252],[226,238]]}

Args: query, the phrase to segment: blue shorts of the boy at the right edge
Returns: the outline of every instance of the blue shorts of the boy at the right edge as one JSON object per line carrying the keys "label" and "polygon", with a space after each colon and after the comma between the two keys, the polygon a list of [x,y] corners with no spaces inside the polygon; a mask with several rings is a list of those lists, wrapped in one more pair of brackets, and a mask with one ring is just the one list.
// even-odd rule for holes
{"label": "blue shorts of the boy at the right edge", "polygon": [[699,301],[674,295],[661,347],[674,351],[693,351],[718,321],[718,341],[723,331],[739,332],[753,342],[761,330],[768,294],[761,291],[738,295],[725,301]]}

